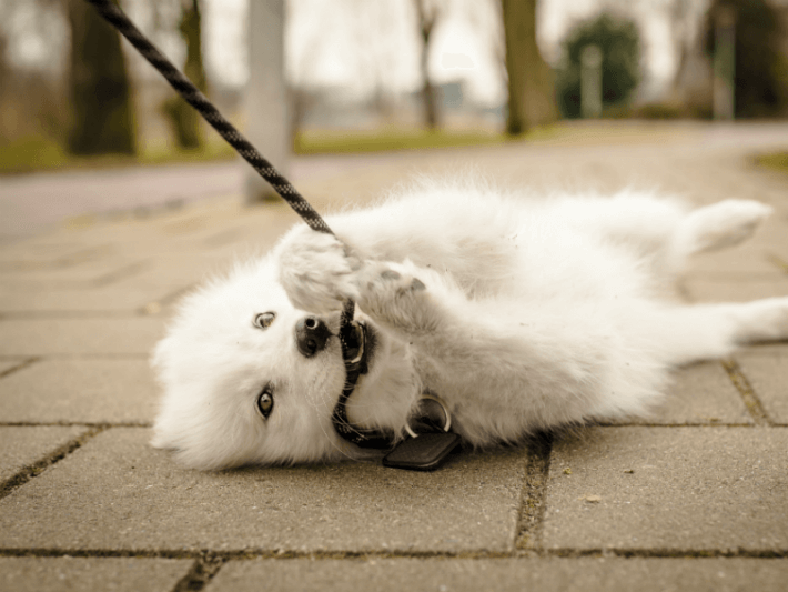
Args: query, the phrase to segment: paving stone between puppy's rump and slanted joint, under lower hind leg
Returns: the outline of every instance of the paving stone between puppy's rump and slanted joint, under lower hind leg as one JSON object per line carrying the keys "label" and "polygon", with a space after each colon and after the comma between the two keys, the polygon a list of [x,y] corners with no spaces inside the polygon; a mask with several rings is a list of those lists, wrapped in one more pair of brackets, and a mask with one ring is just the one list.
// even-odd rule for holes
{"label": "paving stone between puppy's rump and slanted joint, under lower hind leg", "polygon": [[676,371],[664,403],[650,417],[630,423],[717,425],[754,421],[723,365],[704,362]]}

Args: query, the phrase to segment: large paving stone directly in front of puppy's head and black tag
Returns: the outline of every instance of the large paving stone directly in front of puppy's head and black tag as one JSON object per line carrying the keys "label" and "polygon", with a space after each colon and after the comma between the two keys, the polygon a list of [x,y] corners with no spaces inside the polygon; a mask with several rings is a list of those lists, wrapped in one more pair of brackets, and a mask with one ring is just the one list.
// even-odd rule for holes
{"label": "large paving stone directly in front of puppy's head and black tag", "polygon": [[0,546],[511,551],[525,452],[462,454],[435,473],[377,464],[201,473],[108,430],[0,500]]}

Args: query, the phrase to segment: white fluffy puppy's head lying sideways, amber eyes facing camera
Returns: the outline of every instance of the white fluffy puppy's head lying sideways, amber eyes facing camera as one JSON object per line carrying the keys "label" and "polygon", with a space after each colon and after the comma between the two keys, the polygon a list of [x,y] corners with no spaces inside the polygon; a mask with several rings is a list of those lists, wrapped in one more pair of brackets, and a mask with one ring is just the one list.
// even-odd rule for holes
{"label": "white fluffy puppy's head lying sideways, amber eyes facing camera", "polygon": [[[164,389],[154,446],[205,470],[361,455],[331,420],[346,375],[340,313],[294,308],[276,278],[273,260],[252,262],[181,304],[153,357]],[[405,345],[360,318],[368,371],[348,418],[401,434],[418,392]]]}

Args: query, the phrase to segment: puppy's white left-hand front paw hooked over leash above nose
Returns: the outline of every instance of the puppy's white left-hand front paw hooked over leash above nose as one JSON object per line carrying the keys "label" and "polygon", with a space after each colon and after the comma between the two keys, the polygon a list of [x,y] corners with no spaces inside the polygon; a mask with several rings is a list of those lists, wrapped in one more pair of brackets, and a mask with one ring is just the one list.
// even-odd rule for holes
{"label": "puppy's white left-hand front paw hooked over leash above nose", "polygon": [[310,312],[342,309],[357,299],[358,258],[333,234],[291,233],[279,248],[280,282],[294,307]]}

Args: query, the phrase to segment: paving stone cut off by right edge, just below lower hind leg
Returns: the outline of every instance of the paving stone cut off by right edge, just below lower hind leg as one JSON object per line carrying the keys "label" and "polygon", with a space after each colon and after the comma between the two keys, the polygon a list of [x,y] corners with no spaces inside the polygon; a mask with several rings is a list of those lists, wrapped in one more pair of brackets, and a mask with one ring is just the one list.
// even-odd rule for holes
{"label": "paving stone cut off by right edge, just below lower hind leg", "polygon": [[788,424],[788,344],[749,348],[736,360],[771,421]]}

